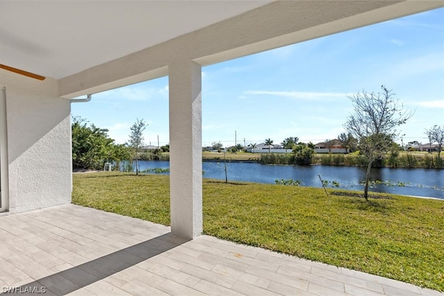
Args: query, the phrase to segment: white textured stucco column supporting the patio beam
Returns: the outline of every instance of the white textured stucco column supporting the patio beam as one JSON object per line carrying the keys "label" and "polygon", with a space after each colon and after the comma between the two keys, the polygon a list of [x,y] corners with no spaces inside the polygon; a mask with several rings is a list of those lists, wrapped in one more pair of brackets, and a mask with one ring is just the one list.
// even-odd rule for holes
{"label": "white textured stucco column supporting the patio beam", "polygon": [[201,67],[191,60],[169,66],[171,232],[202,233]]}

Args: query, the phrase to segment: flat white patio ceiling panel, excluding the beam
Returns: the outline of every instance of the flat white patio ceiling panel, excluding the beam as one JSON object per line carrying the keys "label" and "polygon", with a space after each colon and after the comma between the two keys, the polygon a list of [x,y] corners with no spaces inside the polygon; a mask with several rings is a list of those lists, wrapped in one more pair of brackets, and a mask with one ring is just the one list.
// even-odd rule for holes
{"label": "flat white patio ceiling panel, excluding the beam", "polygon": [[269,2],[1,0],[0,62],[60,79]]}

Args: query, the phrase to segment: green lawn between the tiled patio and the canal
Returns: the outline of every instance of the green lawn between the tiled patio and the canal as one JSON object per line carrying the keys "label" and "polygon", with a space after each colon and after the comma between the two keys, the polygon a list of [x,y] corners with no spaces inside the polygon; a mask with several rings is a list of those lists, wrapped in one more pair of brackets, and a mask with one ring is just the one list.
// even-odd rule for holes
{"label": "green lawn between the tiled patio and the canal", "polygon": [[[339,191],[334,189],[334,191]],[[444,202],[203,182],[205,234],[444,291]],[[73,202],[169,225],[169,177],[74,174]]]}

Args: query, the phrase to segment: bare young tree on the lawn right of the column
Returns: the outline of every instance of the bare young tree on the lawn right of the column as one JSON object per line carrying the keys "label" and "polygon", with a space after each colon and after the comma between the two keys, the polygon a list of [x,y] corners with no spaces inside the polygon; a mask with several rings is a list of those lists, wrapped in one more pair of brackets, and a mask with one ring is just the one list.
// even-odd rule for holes
{"label": "bare young tree on the lawn right of the column", "polygon": [[348,96],[352,101],[354,112],[348,116],[344,124],[347,130],[359,143],[359,150],[368,158],[364,198],[368,200],[368,181],[370,169],[375,161],[383,157],[397,137],[395,128],[406,123],[413,115],[403,111],[402,104],[393,98],[395,94],[384,85],[382,92],[357,92]]}

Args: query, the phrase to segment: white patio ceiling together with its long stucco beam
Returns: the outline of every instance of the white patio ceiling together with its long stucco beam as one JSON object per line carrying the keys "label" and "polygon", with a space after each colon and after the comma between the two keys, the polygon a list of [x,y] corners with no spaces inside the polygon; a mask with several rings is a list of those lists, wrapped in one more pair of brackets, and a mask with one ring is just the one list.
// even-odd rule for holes
{"label": "white patio ceiling together with its long stucco beam", "polygon": [[[0,63],[72,98],[444,6],[444,1],[0,0]],[[154,71],[154,72],[153,72]],[[148,74],[147,74],[148,73]]]}

